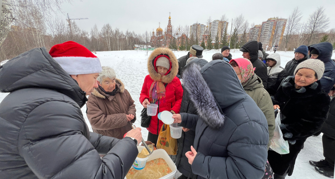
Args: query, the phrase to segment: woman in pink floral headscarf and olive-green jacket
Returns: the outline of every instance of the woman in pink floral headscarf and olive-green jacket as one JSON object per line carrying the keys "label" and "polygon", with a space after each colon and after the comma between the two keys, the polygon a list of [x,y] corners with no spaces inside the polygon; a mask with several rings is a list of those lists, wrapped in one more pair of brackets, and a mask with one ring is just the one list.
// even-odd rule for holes
{"label": "woman in pink floral headscarf and olive-green jacket", "polygon": [[[275,129],[274,109],[269,93],[264,89],[262,80],[254,73],[255,68],[252,63],[246,58],[238,58],[230,60],[229,64],[235,70],[237,76],[241,80],[241,84],[246,93],[256,102],[257,106],[263,111],[269,129],[269,143],[268,149],[271,144],[271,139]],[[266,164],[266,176],[270,176],[273,172],[270,164]],[[263,178],[268,178],[264,177]]]}

